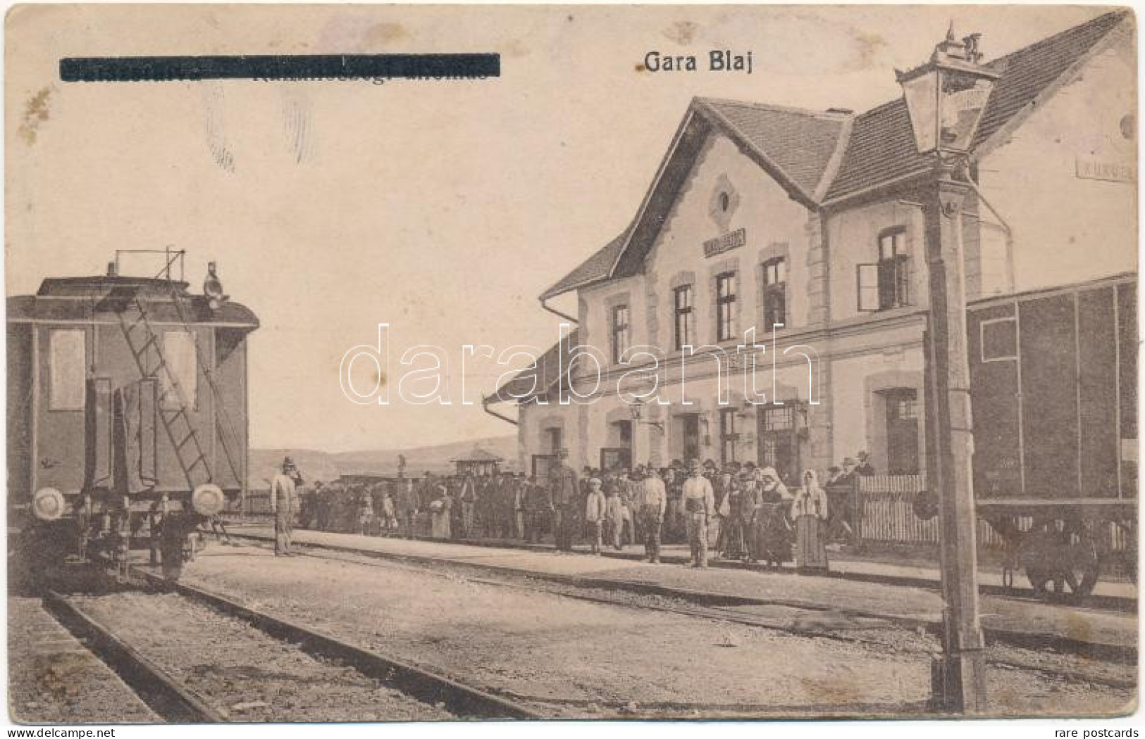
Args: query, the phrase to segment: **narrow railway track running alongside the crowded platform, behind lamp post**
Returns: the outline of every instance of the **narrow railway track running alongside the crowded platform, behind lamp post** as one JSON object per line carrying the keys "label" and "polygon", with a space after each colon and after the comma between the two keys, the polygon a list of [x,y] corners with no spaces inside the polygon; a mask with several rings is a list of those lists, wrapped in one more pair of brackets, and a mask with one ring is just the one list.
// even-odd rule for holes
{"label": "narrow railway track running alongside the crowded platform, behind lamp post", "polygon": [[[240,537],[246,538],[246,537]],[[266,542],[258,538],[248,538],[252,541],[258,541],[260,545]],[[548,595],[556,595],[561,597],[574,598],[578,601],[586,601],[591,603],[599,603],[605,605],[638,609],[646,611],[660,611],[665,613],[673,613],[678,615],[687,615],[694,618],[702,618],[712,621],[737,623],[742,626],[751,626],[758,628],[776,629],[790,634],[797,634],[800,636],[814,636],[820,638],[829,638],[840,642],[852,642],[868,644],[870,646],[884,646],[884,644],[878,638],[871,638],[871,634],[879,630],[885,630],[889,628],[898,627],[900,629],[905,628],[913,631],[918,631],[919,629],[925,629],[926,631],[933,634],[935,629],[933,625],[922,620],[908,620],[898,618],[887,618],[875,613],[868,612],[848,612],[846,610],[828,610],[828,609],[813,609],[807,607],[803,604],[790,604],[790,603],[774,603],[772,604],[771,612],[767,613],[743,613],[736,612],[734,609],[739,602],[736,598],[724,598],[722,604],[708,605],[704,603],[689,602],[686,598],[680,598],[679,594],[660,594],[653,597],[648,596],[637,596],[631,597],[632,594],[626,594],[622,591],[608,590],[601,586],[594,586],[592,583],[578,582],[575,579],[564,580],[547,580],[544,578],[524,578],[522,575],[507,575],[502,572],[496,572],[496,574],[502,575],[500,579],[481,577],[477,574],[472,574],[472,571],[489,571],[490,566],[480,563],[448,563],[447,571],[442,571],[441,562],[432,563],[419,561],[418,558],[405,557],[403,555],[387,555],[384,553],[378,553],[373,550],[348,550],[345,547],[326,547],[324,545],[311,545],[306,543],[299,547],[299,550],[305,553],[306,556],[319,557],[325,559],[339,561],[339,562],[350,562],[354,564],[360,564],[363,566],[379,566],[379,567],[392,567],[398,566],[408,570],[417,570],[418,572],[433,574],[435,577],[442,578],[461,578],[468,582],[477,585],[488,585],[496,587],[513,588],[519,590],[530,590],[535,593],[545,593]],[[339,556],[341,554],[347,554],[347,556]],[[355,556],[362,558],[354,558]],[[379,562],[371,562],[381,561]],[[382,564],[384,563],[384,564]],[[431,566],[436,565],[436,566]],[[496,569],[495,569],[496,570]],[[458,574],[458,572],[466,572],[466,574]],[[742,605],[742,604],[741,604]],[[1011,635],[1009,641],[1003,641],[1003,643],[1011,646],[1019,646],[1022,649],[1032,649],[1032,651],[1037,651],[1037,636],[1035,634],[1014,634]],[[1034,646],[1030,646],[1034,644]],[[919,650],[919,652],[930,653],[931,650]],[[1134,651],[1136,655],[1136,651]],[[1126,660],[1116,659],[1114,662],[1122,662]],[[1135,660],[1128,660],[1134,663]],[[1064,680],[1072,682],[1088,682],[1098,685],[1105,685],[1110,688],[1123,688],[1123,689],[1135,689],[1137,686],[1136,678],[1120,677],[1114,675],[1103,675],[1095,674],[1091,670],[1074,670],[1065,669],[1060,667],[1047,667],[1037,665],[1030,660],[1019,659],[1019,658],[1000,658],[992,655],[988,658],[988,662],[996,667],[1011,668],[1011,669],[1026,669],[1036,670],[1043,674],[1051,674]]]}

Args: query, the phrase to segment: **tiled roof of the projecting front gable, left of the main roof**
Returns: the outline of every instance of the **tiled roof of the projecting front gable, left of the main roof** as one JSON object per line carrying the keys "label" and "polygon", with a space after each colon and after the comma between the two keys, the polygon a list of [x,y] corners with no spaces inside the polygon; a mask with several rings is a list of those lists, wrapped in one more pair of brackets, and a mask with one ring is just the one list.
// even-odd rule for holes
{"label": "tiled roof of the projecting front gable, left of the main roof", "polygon": [[842,159],[848,126],[847,113],[693,98],[635,221],[542,293],[542,300],[599,280],[638,273],[712,130],[731,138],[792,200],[814,208]]}

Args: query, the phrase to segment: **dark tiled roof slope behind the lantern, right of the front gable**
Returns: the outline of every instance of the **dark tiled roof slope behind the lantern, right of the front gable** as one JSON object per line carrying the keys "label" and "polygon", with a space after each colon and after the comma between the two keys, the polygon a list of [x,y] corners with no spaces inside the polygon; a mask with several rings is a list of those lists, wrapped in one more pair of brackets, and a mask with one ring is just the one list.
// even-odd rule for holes
{"label": "dark tiled roof slope behind the lantern, right of the front gable", "polygon": [[[1123,19],[1118,10],[1067,29],[987,64],[1002,72],[990,93],[974,149],[1057,89],[1059,79],[1085,59]],[[843,165],[824,201],[837,201],[899,177],[924,172],[926,157],[915,148],[907,105],[900,97],[854,120]]]}

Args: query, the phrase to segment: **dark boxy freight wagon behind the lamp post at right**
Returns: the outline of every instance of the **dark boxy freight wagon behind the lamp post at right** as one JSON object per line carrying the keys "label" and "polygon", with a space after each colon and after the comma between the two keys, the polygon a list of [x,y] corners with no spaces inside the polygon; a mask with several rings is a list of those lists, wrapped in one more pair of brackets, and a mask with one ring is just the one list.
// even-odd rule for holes
{"label": "dark boxy freight wagon behind the lamp post at right", "polygon": [[1137,559],[1137,277],[979,301],[968,311],[979,515],[1005,579],[1089,595]]}

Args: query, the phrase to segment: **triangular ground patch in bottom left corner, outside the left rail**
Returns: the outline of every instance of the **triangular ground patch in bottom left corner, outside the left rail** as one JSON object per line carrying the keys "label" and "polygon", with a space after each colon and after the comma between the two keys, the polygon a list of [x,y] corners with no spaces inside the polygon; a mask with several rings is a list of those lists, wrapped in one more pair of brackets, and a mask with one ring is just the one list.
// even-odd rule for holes
{"label": "triangular ground patch in bottom left corner, outside the left rail", "polygon": [[155,723],[150,708],[39,598],[8,598],[8,716],[15,723]]}

